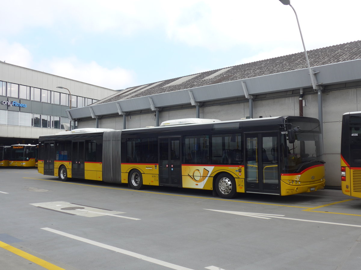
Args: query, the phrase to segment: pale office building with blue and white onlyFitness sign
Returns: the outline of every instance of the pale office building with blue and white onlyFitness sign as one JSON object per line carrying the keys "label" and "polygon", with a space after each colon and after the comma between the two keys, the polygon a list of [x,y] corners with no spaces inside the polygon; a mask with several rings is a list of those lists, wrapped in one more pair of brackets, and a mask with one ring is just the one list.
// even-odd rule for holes
{"label": "pale office building with blue and white onlyFitness sign", "polygon": [[0,145],[36,144],[40,135],[70,125],[74,129],[78,123],[70,120],[67,109],[114,93],[118,92],[0,61]]}

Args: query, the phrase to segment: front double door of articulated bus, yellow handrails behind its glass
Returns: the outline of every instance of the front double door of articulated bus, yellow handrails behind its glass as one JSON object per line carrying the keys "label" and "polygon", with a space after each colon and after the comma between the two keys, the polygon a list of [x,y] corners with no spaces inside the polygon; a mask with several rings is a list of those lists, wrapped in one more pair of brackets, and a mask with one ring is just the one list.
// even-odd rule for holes
{"label": "front double door of articulated bus, yellow handrails behind its glass", "polygon": [[280,194],[278,134],[245,133],[246,192]]}

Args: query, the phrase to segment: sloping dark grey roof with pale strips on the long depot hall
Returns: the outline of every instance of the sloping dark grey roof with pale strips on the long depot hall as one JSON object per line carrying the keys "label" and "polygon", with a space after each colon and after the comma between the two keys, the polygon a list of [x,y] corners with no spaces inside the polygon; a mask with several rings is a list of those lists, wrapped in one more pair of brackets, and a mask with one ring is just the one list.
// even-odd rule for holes
{"label": "sloping dark grey roof with pale strips on the long depot hall", "polygon": [[[307,53],[311,67],[361,59],[361,41],[358,40],[309,50]],[[95,104],[191,89],[194,87],[218,84],[220,82],[242,80],[303,68],[307,68],[307,64],[304,52],[300,52],[155,82],[153,84],[147,84],[150,86],[144,89],[141,86],[132,86],[129,87],[129,89],[139,88],[139,91],[132,92],[131,95],[129,95],[129,92],[125,89],[125,91],[122,91],[118,95],[105,98]],[[143,87],[147,85],[143,85]]]}

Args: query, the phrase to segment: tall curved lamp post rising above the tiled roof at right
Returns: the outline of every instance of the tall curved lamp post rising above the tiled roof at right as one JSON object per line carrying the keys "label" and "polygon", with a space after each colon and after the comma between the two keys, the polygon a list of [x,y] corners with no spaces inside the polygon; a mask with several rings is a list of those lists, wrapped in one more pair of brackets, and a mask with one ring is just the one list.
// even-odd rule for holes
{"label": "tall curved lamp post rising above the tiled roof at right", "polygon": [[312,83],[312,87],[313,90],[316,91],[317,90],[317,99],[318,99],[318,120],[320,123],[320,129],[321,129],[321,152],[323,154],[323,114],[322,114],[322,87],[319,86],[317,84],[317,80],[316,80],[316,76],[315,73],[313,72],[313,70],[311,69],[310,66],[310,62],[308,61],[308,56],[307,56],[307,51],[306,51],[306,47],[305,47],[305,42],[303,41],[303,36],[302,36],[302,32],[301,32],[301,27],[300,27],[300,23],[298,21],[298,17],[297,17],[297,13],[296,10],[293,8],[293,6],[291,5],[290,0],[279,0],[283,5],[288,5],[293,9],[293,12],[295,12],[296,15],[296,20],[297,20],[297,25],[298,25],[298,29],[300,30],[300,35],[301,35],[301,40],[302,40],[302,45],[303,45],[303,49],[305,51],[305,57],[306,57],[306,62],[307,62],[307,67],[308,67],[308,72],[310,73],[310,77],[311,77],[311,83]]}

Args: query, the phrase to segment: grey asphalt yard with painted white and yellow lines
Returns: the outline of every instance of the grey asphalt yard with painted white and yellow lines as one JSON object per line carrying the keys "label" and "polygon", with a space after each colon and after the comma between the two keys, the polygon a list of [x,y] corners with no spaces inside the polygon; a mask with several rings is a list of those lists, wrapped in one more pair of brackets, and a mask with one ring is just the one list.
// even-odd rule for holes
{"label": "grey asphalt yard with painted white and yellow lines", "polygon": [[360,269],[361,200],[227,200],[0,168],[0,269]]}

